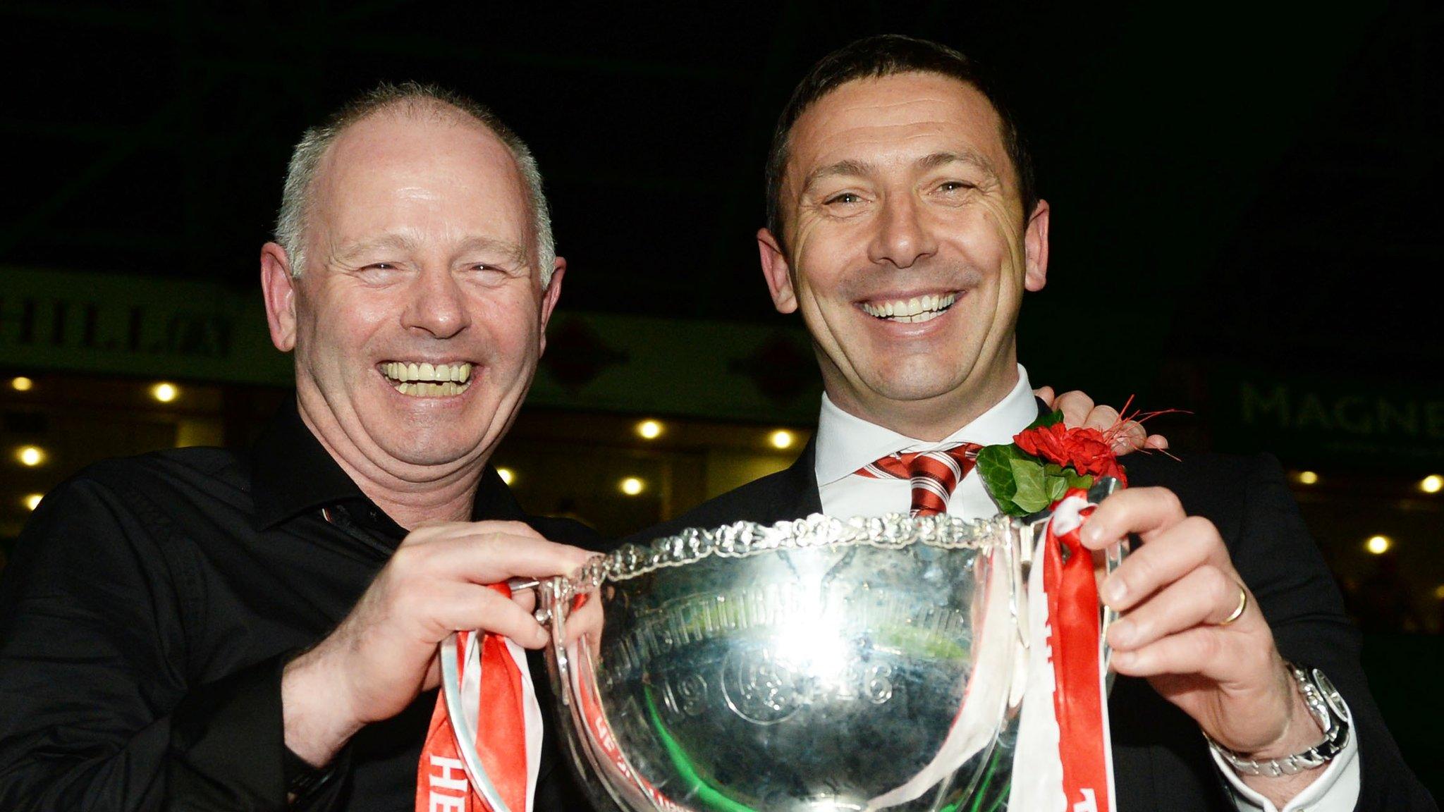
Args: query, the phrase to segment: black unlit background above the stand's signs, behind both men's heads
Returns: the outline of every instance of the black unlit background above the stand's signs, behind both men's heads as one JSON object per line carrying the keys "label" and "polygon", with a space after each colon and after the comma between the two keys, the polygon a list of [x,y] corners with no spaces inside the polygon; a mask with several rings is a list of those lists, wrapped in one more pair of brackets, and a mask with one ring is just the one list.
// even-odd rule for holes
{"label": "black unlit background above the stand's signs, behind both men's heads", "polygon": [[1103,394],[1177,355],[1437,368],[1437,6],[1014,6],[9,3],[0,264],[250,289],[302,129],[416,78],[533,143],[563,306],[775,318],[752,241],[775,114],[816,58],[897,30],[1017,97],[1054,211],[1025,354],[1123,332]]}

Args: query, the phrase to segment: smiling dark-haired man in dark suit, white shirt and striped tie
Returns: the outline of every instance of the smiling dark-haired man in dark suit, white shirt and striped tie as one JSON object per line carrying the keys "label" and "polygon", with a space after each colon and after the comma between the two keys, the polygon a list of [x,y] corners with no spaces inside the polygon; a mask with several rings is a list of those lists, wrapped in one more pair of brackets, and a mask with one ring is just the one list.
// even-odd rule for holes
{"label": "smiling dark-haired man in dark suit, white shirt and striped tie", "polygon": [[[1047,280],[1050,208],[972,62],[898,36],[829,55],[781,116],[767,185],[762,270],[812,334],[817,432],[791,468],[647,537],[905,511],[908,481],[865,467],[1011,442],[1038,415],[1014,329],[1024,290]],[[1119,808],[1434,809],[1369,696],[1278,464],[1141,457],[1083,535],[1092,549],[1142,542],[1100,588],[1122,613],[1109,631]],[[949,497],[949,513],[995,511],[975,472]],[[1305,695],[1327,679],[1344,702],[1320,721]]]}

